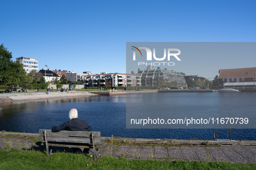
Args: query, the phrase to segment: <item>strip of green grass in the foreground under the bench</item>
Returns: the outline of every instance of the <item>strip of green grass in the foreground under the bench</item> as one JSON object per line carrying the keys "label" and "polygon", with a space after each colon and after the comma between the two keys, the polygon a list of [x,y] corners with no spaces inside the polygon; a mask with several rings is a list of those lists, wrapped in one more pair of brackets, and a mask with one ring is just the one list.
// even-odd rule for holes
{"label": "strip of green grass in the foreground under the bench", "polygon": [[57,152],[46,157],[45,151],[0,149],[0,170],[254,170],[256,164],[232,164],[227,162],[157,161],[100,157],[84,154]]}

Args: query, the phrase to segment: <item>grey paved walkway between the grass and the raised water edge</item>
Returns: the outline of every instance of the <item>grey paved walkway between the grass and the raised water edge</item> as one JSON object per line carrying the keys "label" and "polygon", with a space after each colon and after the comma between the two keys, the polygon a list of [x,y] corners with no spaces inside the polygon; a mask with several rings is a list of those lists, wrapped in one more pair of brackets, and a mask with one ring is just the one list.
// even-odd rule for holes
{"label": "grey paved walkway between the grass and the raised water edge", "polygon": [[[0,148],[5,148],[4,140],[12,142],[12,148],[25,148],[27,144],[35,150],[45,150],[40,142],[31,140],[0,138]],[[18,142],[19,141],[19,142]],[[55,151],[73,152],[71,148],[52,147]],[[90,150],[92,153],[92,150]],[[143,145],[107,145],[100,150],[99,155],[111,155],[113,157],[126,157],[129,159],[155,159],[155,160],[185,160],[185,161],[227,161],[240,163],[256,163],[256,147],[246,146],[143,146]]]}

